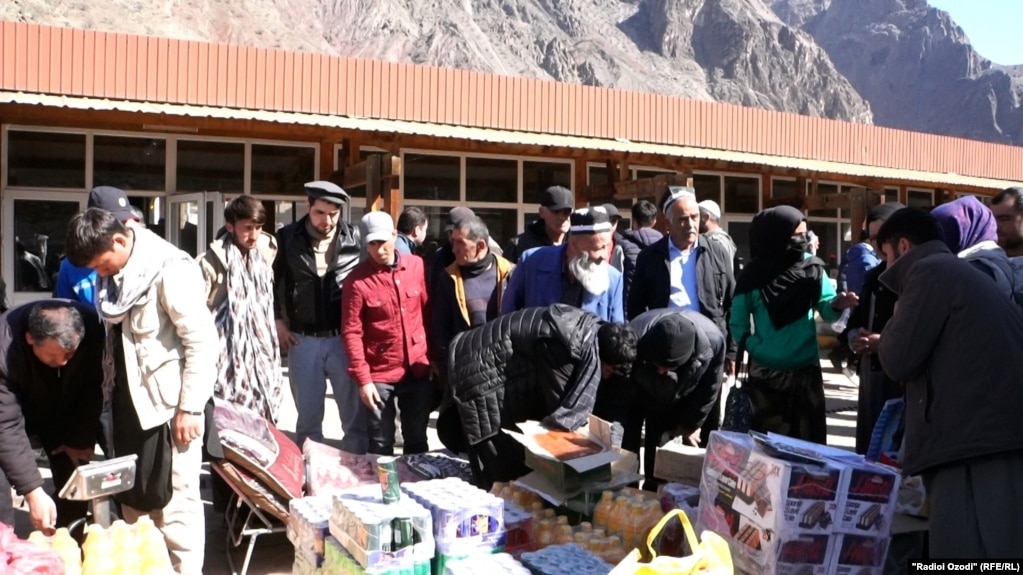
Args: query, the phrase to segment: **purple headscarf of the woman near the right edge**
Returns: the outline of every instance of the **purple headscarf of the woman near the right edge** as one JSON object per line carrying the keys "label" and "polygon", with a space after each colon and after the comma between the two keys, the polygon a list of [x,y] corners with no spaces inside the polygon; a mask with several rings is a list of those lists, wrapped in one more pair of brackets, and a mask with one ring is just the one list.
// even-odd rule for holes
{"label": "purple headscarf of the woman near the right edge", "polygon": [[1012,264],[1006,251],[998,247],[998,226],[987,206],[966,195],[938,206],[931,215],[941,228],[945,246],[990,276],[1003,293],[1013,297]]}

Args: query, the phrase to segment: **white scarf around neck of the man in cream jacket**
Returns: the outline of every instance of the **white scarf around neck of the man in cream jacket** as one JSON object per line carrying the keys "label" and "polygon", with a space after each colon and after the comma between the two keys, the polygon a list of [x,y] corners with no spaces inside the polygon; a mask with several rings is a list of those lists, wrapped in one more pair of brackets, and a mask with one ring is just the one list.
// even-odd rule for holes
{"label": "white scarf around neck of the man in cream jacket", "polygon": [[114,390],[114,326],[124,321],[128,312],[149,293],[167,266],[176,261],[191,261],[188,254],[148,229],[130,226],[134,237],[128,261],[117,275],[97,280],[96,311],[106,327],[103,346],[103,401],[110,400]]}

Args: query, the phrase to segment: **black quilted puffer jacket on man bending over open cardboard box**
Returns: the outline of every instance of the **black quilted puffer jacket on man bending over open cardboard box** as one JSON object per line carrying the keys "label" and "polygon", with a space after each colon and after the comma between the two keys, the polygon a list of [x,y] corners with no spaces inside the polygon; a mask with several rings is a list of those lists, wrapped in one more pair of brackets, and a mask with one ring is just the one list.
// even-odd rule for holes
{"label": "black quilted puffer jacket on man bending over open cardboard box", "polygon": [[566,305],[527,308],[455,336],[448,375],[470,445],[527,419],[575,430],[601,382],[601,319]]}

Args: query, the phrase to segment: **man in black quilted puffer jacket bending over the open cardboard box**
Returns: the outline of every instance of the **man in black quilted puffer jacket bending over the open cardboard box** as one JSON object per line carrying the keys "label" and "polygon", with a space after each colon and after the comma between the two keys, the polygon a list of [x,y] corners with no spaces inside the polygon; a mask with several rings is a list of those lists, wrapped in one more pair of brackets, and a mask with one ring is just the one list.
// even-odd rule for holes
{"label": "man in black quilted puffer jacket bending over the open cardboard box", "polygon": [[522,445],[501,428],[527,419],[574,431],[586,424],[597,386],[628,374],[635,334],[555,304],[526,308],[462,331],[449,348],[449,385],[477,483],[489,488],[529,473]]}

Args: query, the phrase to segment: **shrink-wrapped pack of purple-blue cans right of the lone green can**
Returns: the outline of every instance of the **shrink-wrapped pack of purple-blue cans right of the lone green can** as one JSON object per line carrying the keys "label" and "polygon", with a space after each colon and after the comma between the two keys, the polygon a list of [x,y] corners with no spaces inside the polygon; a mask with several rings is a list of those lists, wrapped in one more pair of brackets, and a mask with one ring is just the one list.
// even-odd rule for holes
{"label": "shrink-wrapped pack of purple-blue cans right of the lone green can", "polygon": [[503,550],[504,501],[456,478],[407,483],[408,497],[430,510],[437,556],[434,572],[451,560]]}

